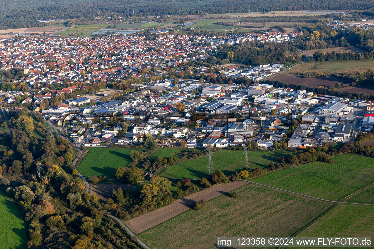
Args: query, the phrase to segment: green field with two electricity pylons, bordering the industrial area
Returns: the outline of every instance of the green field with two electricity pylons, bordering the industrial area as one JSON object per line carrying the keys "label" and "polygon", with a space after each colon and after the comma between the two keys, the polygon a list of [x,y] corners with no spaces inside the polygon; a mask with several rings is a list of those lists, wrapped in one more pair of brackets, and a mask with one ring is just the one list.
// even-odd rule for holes
{"label": "green field with two electricity pylons, bordering the industrial area", "polygon": [[[224,174],[231,175],[245,169],[242,150],[218,150],[213,154],[214,169],[221,169]],[[270,162],[278,163],[279,158],[286,155],[283,151],[257,150],[248,153],[248,166],[251,169],[267,168]],[[291,156],[291,153],[288,153]],[[160,175],[170,179],[200,179],[205,177],[208,158],[203,156],[191,159],[167,168]]]}

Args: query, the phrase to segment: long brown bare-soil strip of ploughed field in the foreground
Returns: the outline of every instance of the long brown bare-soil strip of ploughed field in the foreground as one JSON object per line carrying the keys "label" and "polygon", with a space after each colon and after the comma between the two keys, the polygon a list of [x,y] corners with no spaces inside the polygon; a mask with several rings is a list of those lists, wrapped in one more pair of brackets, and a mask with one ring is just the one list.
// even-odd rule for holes
{"label": "long brown bare-soil strip of ploughed field in the foreground", "polygon": [[200,192],[191,194],[182,199],[175,200],[168,206],[156,209],[148,214],[141,215],[135,219],[126,221],[126,225],[134,232],[141,233],[149,228],[154,227],[164,221],[167,221],[190,208],[193,208],[196,202],[200,199],[211,200],[221,194],[225,194],[234,189],[248,184],[245,181],[233,181],[223,185],[215,186],[210,189],[205,189]]}

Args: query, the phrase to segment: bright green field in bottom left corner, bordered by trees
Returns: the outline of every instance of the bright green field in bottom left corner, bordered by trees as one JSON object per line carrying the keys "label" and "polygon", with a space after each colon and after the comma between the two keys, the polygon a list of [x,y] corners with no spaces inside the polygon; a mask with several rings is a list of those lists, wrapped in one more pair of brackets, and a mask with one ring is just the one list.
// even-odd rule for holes
{"label": "bright green field in bottom left corner, bordered by trees", "polygon": [[17,206],[0,191],[0,248],[24,249],[27,243],[25,221]]}

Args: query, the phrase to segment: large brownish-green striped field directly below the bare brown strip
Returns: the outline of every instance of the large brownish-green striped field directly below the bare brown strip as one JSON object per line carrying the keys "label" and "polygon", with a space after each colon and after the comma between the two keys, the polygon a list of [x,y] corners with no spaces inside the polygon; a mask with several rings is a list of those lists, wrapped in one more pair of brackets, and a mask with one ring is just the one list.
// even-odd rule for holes
{"label": "large brownish-green striped field directly below the bare brown strip", "polygon": [[291,236],[332,203],[248,184],[138,235],[152,249],[217,248],[217,236]]}

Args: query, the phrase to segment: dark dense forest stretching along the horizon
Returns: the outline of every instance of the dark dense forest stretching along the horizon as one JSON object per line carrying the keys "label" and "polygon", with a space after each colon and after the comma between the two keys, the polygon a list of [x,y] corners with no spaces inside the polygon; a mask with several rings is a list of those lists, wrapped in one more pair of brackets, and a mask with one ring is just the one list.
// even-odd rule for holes
{"label": "dark dense forest stretching along the horizon", "polygon": [[[364,10],[374,7],[370,0],[343,1],[245,1],[245,0],[176,0],[176,1],[116,1],[116,0],[15,0],[0,1],[0,29],[44,26],[40,19],[81,19],[95,17],[145,17],[157,15],[203,15],[205,13],[270,12],[279,10]],[[370,14],[372,11],[368,11]]]}

